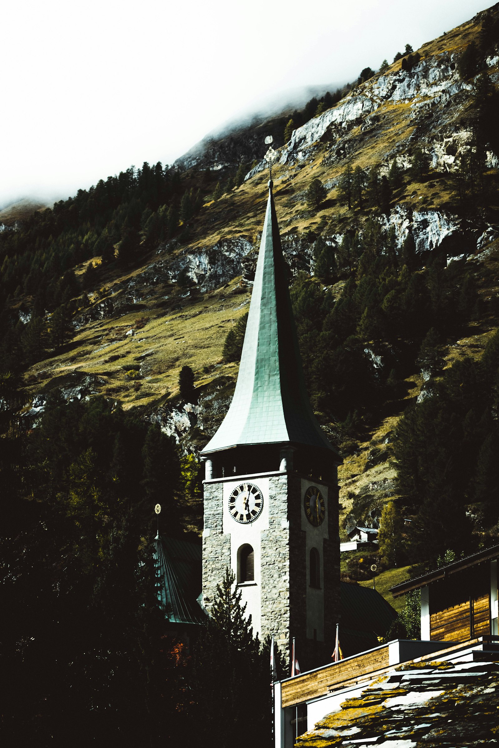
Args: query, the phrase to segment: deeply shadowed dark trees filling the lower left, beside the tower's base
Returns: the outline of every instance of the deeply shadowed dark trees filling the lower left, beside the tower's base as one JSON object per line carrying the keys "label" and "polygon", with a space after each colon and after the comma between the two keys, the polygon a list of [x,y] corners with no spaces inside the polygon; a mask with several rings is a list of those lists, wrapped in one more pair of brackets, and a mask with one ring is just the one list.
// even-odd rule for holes
{"label": "deeply shadowed dark trees filling the lower left, beside the tower's base", "polygon": [[194,748],[216,732],[223,747],[268,745],[270,643],[230,575],[190,652],[165,631],[152,518],[159,502],[162,532],[183,532],[175,445],[100,397],[53,395],[27,429],[23,401],[2,377],[3,743]]}

